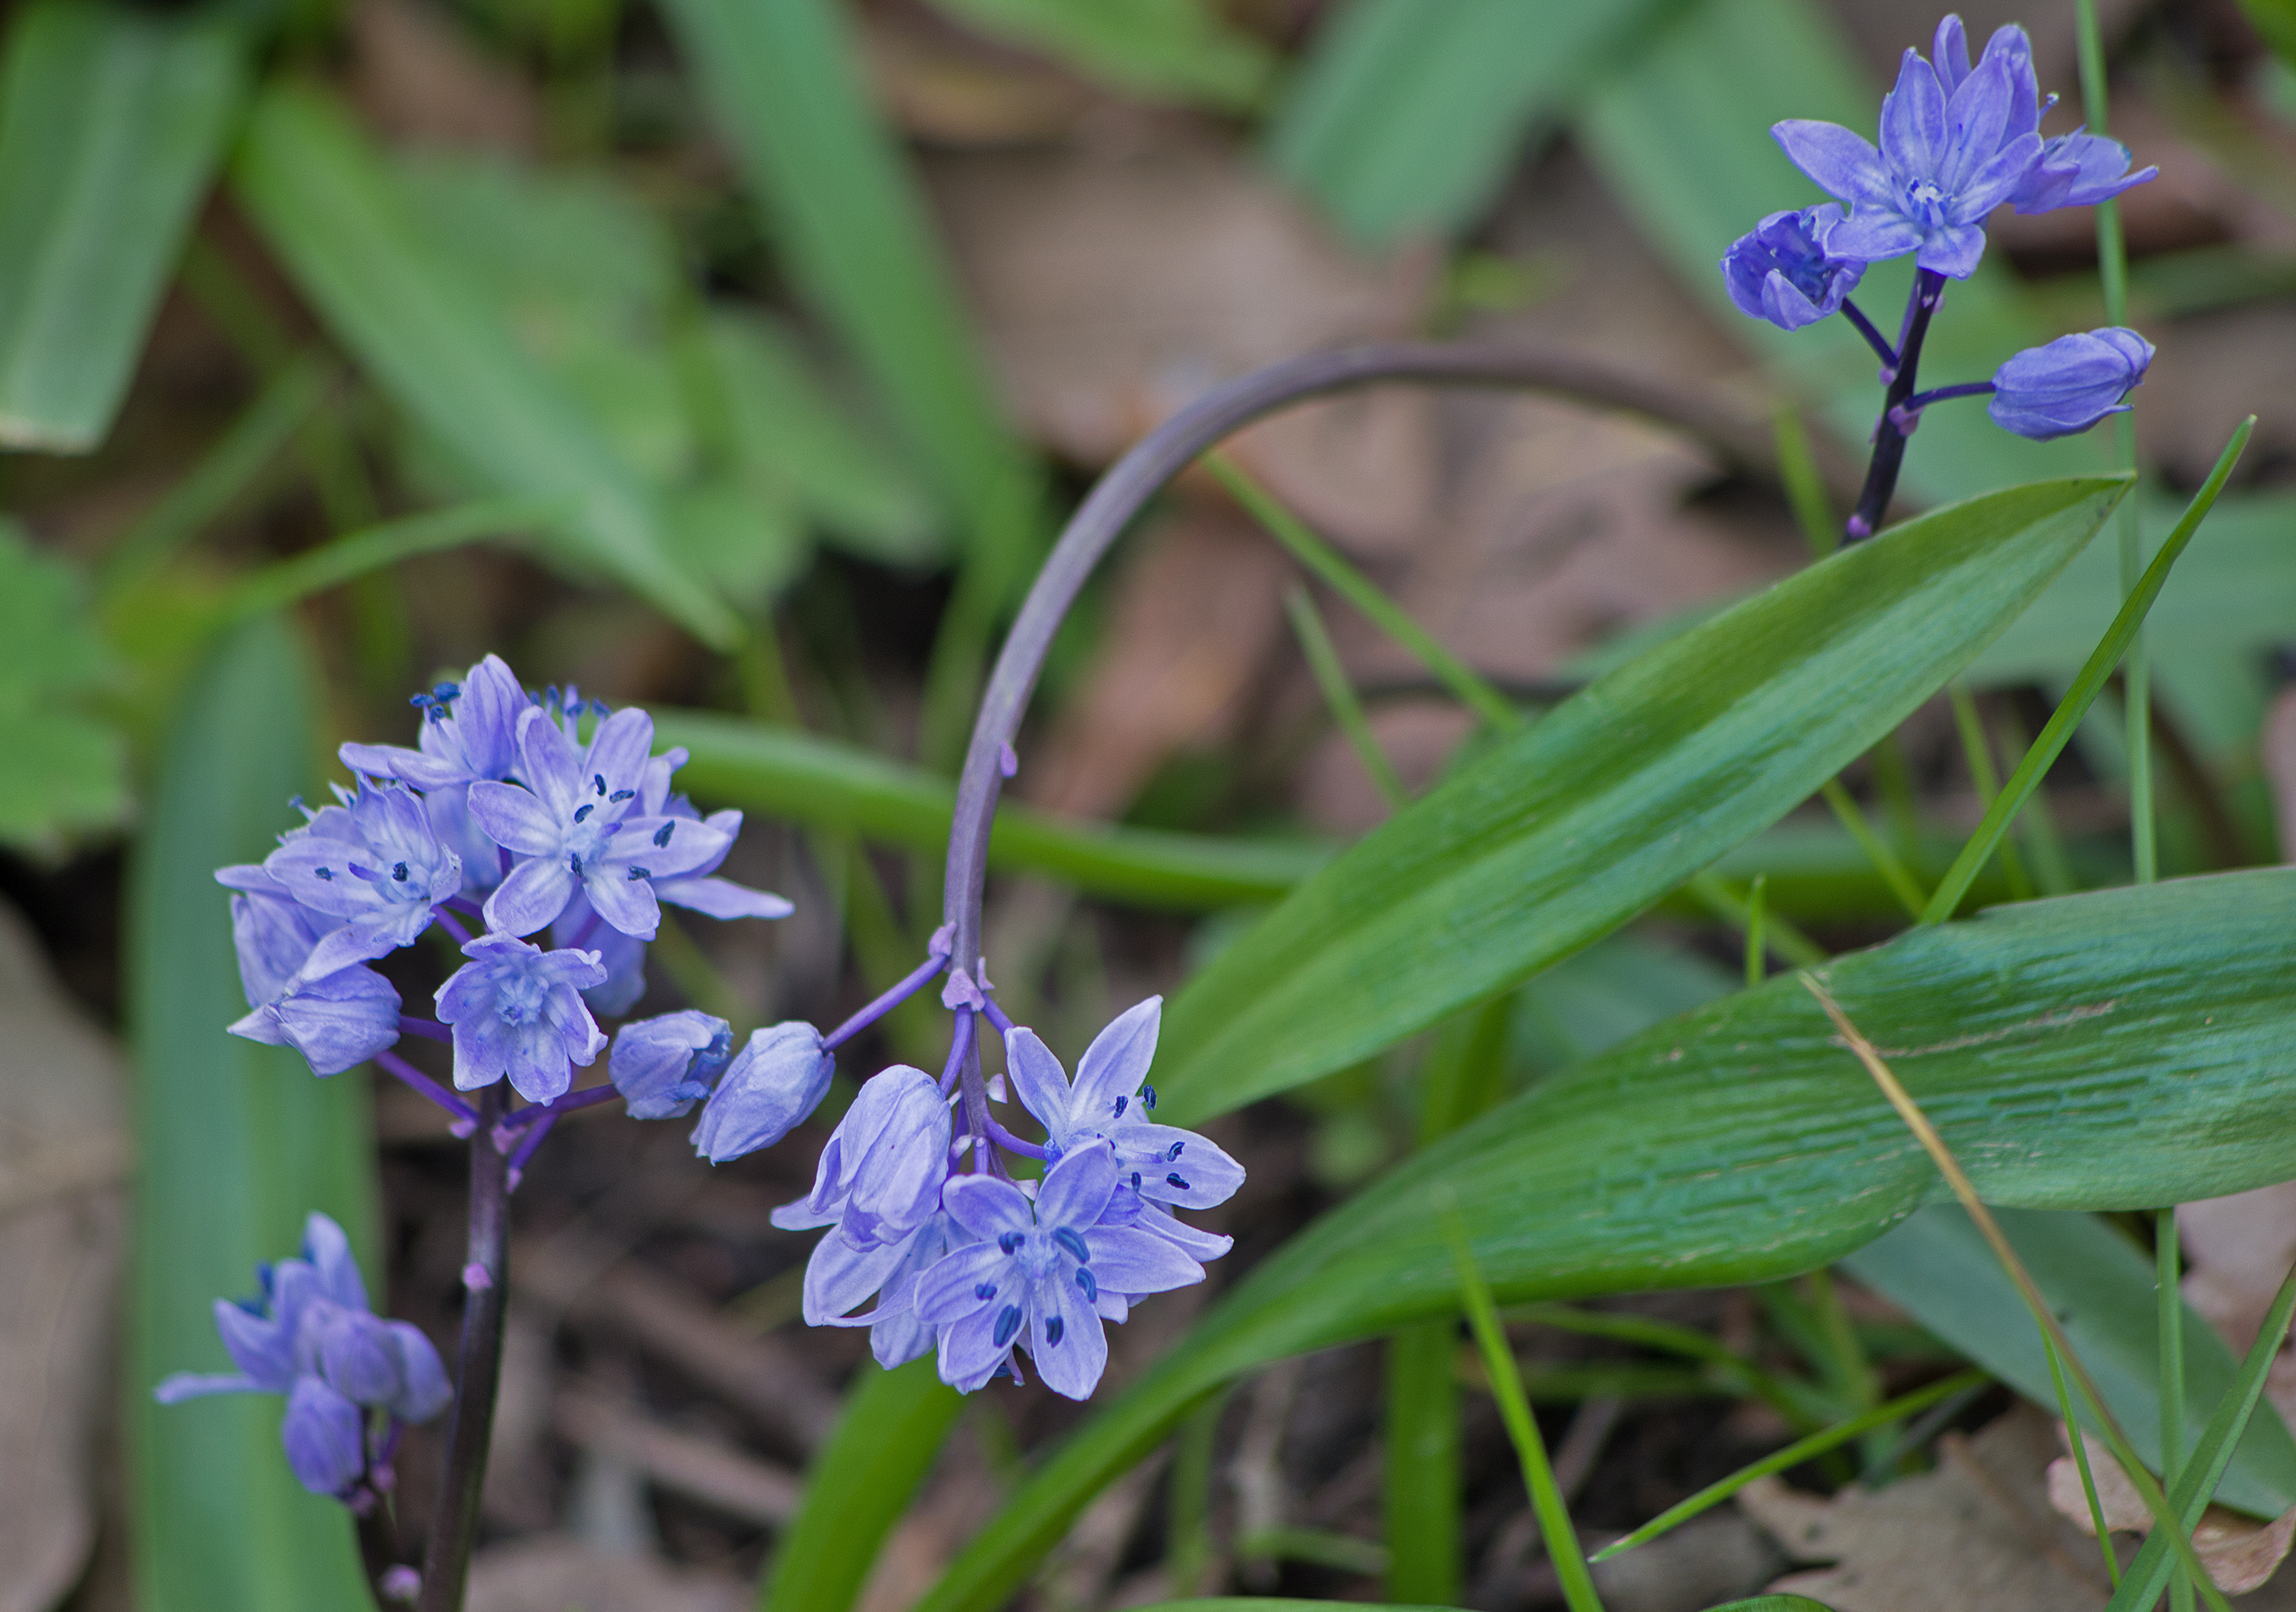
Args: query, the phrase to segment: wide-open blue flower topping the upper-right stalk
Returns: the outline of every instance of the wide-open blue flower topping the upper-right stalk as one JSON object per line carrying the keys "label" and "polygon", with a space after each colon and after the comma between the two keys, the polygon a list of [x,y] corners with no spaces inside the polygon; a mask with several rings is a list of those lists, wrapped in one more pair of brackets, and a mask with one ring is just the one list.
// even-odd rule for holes
{"label": "wide-open blue flower topping the upper-right stalk", "polygon": [[[1947,30],[1940,28],[1940,39]],[[1952,37],[1961,37],[1954,18]],[[2007,202],[2041,156],[2039,96],[2025,32],[1993,34],[1965,69],[1947,55],[1945,78],[1906,51],[1896,90],[1880,103],[1880,149],[1841,124],[1791,117],[1770,133],[1795,168],[1851,214],[1828,234],[1839,257],[1880,262],[1915,253],[1922,269],[1965,280],[1986,250],[1984,218]]]}

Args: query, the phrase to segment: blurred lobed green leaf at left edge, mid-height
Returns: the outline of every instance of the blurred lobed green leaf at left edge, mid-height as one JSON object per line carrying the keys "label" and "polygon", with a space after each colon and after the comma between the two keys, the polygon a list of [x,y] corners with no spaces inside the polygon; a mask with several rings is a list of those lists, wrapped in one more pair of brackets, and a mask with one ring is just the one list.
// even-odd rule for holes
{"label": "blurred lobed green leaf at left edge, mid-height", "polygon": [[126,746],[85,710],[110,675],[80,574],[0,519],[0,840],[51,845],[126,811]]}

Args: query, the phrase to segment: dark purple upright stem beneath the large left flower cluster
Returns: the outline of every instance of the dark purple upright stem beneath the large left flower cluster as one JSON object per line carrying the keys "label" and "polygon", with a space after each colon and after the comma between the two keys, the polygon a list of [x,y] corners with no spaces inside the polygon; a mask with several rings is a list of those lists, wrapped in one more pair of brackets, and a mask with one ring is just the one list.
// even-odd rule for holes
{"label": "dark purple upright stem beneath the large left flower cluster", "polygon": [[422,1555],[420,1612],[461,1612],[478,1543],[478,1493],[487,1477],[487,1440],[503,1375],[503,1309],[510,1300],[510,1160],[487,1134],[503,1118],[503,1086],[480,1098],[480,1134],[471,1137],[471,1258],[464,1265],[461,1362],[448,1421],[445,1474]]}

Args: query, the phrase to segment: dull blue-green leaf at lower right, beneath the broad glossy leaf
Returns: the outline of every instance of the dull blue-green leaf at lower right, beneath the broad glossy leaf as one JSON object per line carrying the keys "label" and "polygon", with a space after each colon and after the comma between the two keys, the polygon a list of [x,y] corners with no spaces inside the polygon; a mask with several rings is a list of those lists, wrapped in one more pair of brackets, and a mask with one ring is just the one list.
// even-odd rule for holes
{"label": "dull blue-green leaf at lower right, beneath the broad glossy leaf", "polygon": [[[1995,1210],[1995,1219],[2128,1440],[2158,1467],[2161,1313],[2151,1258],[2089,1215]],[[1922,1210],[1844,1268],[2025,1398],[2055,1408],[2032,1313],[1958,1203]],[[2183,1424],[2197,1428],[2232,1387],[2236,1362],[2190,1307],[2183,1318]],[[2280,1417],[2250,1424],[2218,1499],[2268,1518],[2296,1506],[2296,1440]]]}

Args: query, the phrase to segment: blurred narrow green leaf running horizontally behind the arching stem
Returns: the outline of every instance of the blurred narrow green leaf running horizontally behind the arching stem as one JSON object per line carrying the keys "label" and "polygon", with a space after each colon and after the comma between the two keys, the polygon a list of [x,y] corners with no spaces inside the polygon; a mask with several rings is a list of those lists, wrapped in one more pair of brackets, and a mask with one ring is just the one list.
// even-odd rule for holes
{"label": "blurred narrow green leaf running horizontally behind the arching stem", "polygon": [[[712,712],[657,710],[654,737],[693,753],[677,776],[705,801],[932,854],[948,847],[955,790],[916,767]],[[1180,909],[1274,900],[1325,857],[1318,845],[1116,829],[1026,806],[1001,806],[990,838],[992,868],[1026,868],[1095,896]]]}

